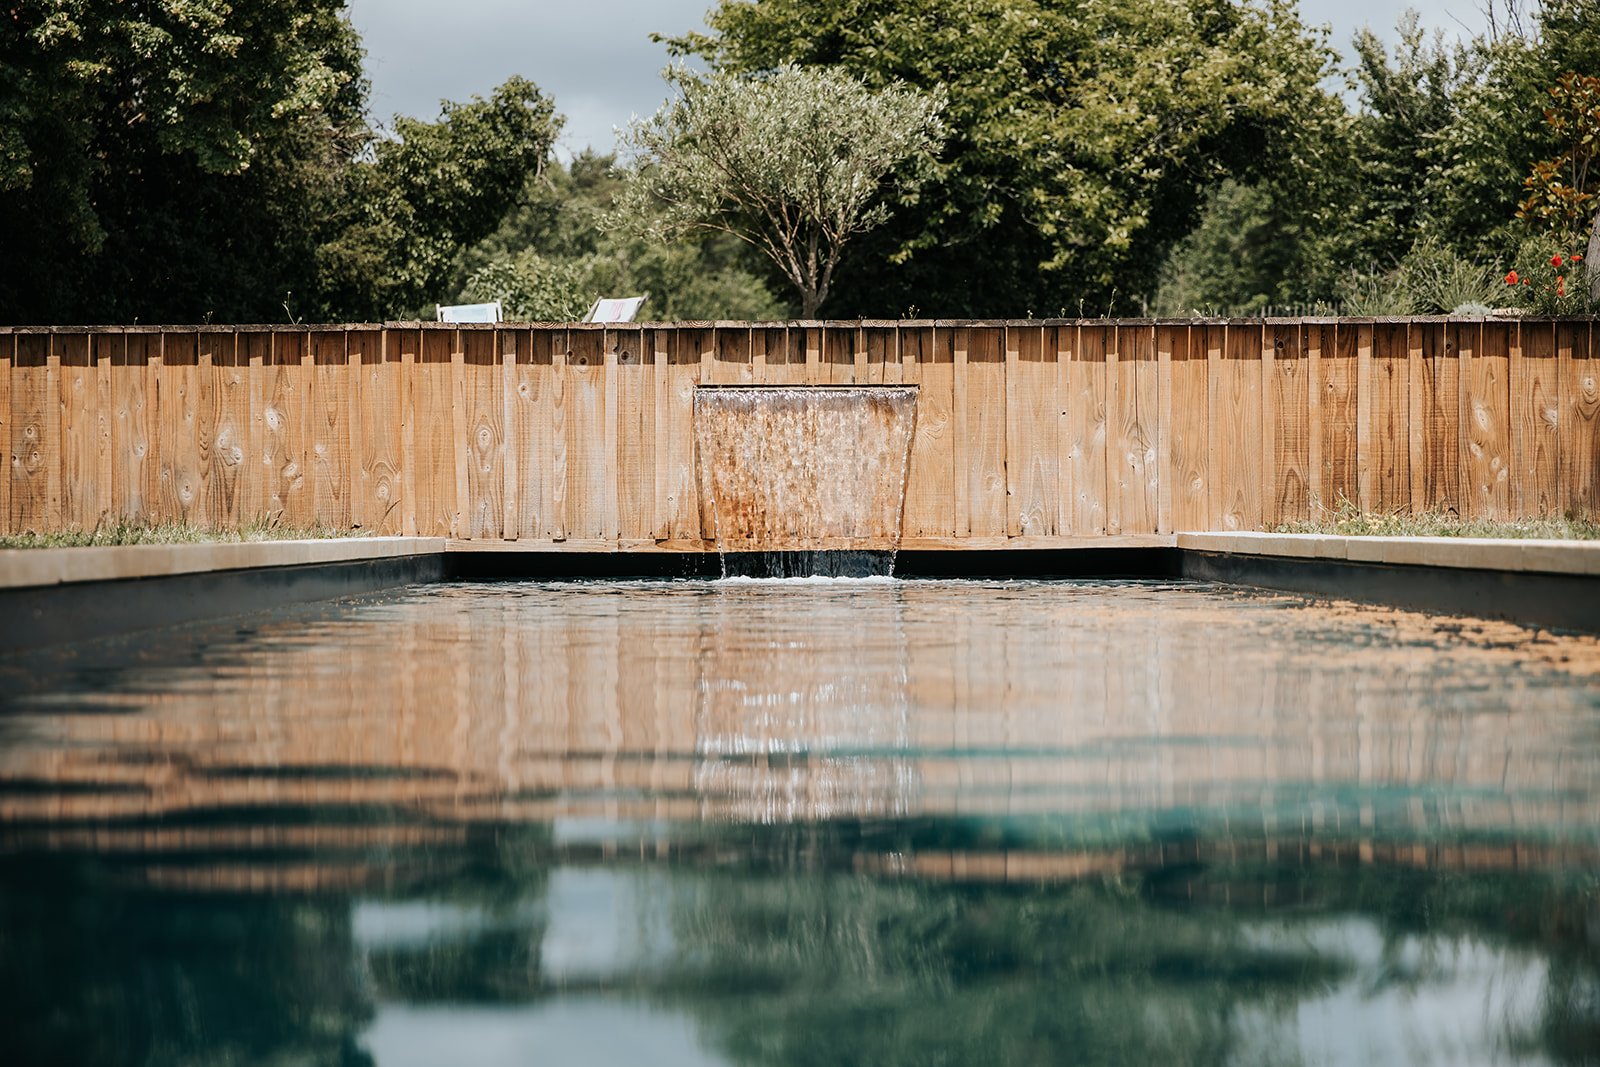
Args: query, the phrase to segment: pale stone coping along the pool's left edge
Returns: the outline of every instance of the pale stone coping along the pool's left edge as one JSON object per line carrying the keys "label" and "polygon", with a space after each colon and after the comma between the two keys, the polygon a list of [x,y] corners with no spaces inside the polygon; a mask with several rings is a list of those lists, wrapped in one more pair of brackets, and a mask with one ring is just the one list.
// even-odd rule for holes
{"label": "pale stone coping along the pool's left edge", "polygon": [[443,552],[443,537],[216,541],[83,549],[0,549],[0,589],[163,577],[198,571],[354,563]]}

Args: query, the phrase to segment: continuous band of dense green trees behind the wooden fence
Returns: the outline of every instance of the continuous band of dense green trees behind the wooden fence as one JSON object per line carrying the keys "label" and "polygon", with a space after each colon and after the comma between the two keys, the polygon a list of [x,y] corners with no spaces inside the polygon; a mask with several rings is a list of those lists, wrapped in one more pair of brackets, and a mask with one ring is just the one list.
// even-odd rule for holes
{"label": "continuous band of dense green trees behind the wooden fence", "polygon": [[[16,3],[0,323],[376,320],[459,298],[550,318],[645,291],[651,318],[1600,299],[1594,0],[1510,0],[1448,46],[1406,14],[1392,46],[1358,34],[1349,70],[1293,0],[722,0],[707,34],[669,46],[712,66],[682,86],[747,98],[746,128],[805,110],[774,106],[779,70],[942,104],[931,152],[891,150],[917,142],[910,115],[842,141],[830,165],[866,149],[912,165],[875,165],[853,202],[872,227],[819,235],[814,267],[805,237],[800,254],[741,243],[774,232],[754,200],[690,219],[709,187],[669,190],[670,138],[640,139],[670,133],[672,104],[621,166],[555,162],[558,101],[523,78],[378,125],[342,6]],[[797,158],[758,162],[795,178]],[[666,213],[602,226],[662,190]],[[733,235],[690,232],[707,222]]]}

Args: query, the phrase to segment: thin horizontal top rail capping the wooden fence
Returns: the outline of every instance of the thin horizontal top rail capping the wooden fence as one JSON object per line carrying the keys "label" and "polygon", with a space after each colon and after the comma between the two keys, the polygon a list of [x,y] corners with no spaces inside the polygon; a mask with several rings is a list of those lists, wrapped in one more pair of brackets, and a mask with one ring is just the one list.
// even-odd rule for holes
{"label": "thin horizontal top rail capping the wooden fence", "polygon": [[706,320],[706,322],[501,322],[501,323],[160,323],[96,326],[0,326],[8,334],[163,334],[163,333],[373,333],[384,330],[507,331],[538,330],[576,333],[638,333],[643,330],[1026,330],[1038,326],[1293,326],[1293,325],[1379,325],[1379,323],[1594,323],[1600,315],[1299,315],[1272,318],[789,318],[789,320]]}

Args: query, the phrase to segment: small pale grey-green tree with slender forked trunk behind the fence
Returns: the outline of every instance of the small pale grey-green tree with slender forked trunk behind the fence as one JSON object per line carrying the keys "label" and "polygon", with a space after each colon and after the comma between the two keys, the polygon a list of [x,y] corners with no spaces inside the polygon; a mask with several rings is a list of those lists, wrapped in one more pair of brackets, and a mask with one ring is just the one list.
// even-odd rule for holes
{"label": "small pale grey-green tree with slender forked trunk behind the fence", "polygon": [[760,75],[677,67],[667,80],[677,99],[626,134],[635,160],[608,224],[667,240],[733,234],[798,290],[803,318],[827,299],[850,238],[888,219],[878,192],[890,173],[944,136],[939,90],[872,91],[794,64]]}

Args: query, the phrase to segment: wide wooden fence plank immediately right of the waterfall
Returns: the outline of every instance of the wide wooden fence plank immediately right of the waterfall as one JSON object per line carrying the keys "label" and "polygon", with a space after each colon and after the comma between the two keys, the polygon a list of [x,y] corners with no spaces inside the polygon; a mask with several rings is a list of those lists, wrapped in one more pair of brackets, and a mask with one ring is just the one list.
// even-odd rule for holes
{"label": "wide wooden fence plank immediately right of the waterfall", "polygon": [[906,472],[907,537],[955,534],[955,363],[949,330],[901,328],[901,374],[917,386],[917,432]]}

